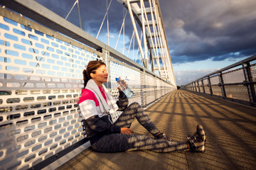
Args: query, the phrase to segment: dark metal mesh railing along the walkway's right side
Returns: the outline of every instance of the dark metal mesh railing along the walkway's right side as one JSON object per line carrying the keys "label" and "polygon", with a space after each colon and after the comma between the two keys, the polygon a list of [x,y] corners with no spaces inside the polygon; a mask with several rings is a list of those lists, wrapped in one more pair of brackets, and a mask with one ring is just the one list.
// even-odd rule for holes
{"label": "dark metal mesh railing along the walkway's right side", "polygon": [[232,64],[200,79],[182,89],[256,107],[256,55]]}

